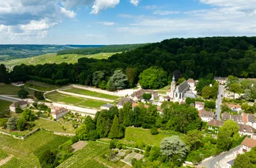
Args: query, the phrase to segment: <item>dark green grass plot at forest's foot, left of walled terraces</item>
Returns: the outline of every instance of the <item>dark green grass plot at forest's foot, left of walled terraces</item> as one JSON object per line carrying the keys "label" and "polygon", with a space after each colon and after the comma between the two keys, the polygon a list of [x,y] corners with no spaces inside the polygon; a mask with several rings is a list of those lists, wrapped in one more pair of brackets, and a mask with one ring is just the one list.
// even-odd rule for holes
{"label": "dark green grass plot at forest's foot, left of walled terraces", "polygon": [[49,84],[41,83],[41,82],[38,82],[38,81],[27,81],[25,86],[26,87],[31,87],[33,89],[37,89],[37,90],[40,90],[40,91],[51,91],[51,90],[54,90],[54,89],[59,89],[59,87],[56,86],[56,85],[49,85]]}

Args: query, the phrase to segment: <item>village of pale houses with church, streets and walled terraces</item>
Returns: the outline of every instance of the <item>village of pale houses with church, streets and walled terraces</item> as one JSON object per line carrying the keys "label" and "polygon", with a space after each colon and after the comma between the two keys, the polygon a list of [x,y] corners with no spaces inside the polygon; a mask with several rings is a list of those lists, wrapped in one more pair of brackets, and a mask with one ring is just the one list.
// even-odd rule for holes
{"label": "village of pale houses with church, streets and walled terraces", "polygon": [[[256,146],[255,114],[248,114],[246,110],[243,109],[245,103],[247,106],[253,107],[254,102],[235,103],[234,100],[242,99],[243,94],[230,91],[226,85],[228,83],[228,78],[214,77],[214,80],[218,82],[218,93],[212,108],[209,108],[209,106],[206,107],[205,104],[208,101],[213,100],[203,99],[201,95],[197,94],[196,87],[199,81],[187,79],[187,81],[182,81],[179,85],[177,85],[175,77],[172,77],[172,81],[169,86],[164,87],[164,89],[166,89],[165,93],[164,89],[141,89],[139,83],[137,84],[136,89],[125,89],[117,92],[104,91],[93,87],[84,87],[82,85],[69,85],[67,87],[58,88],[51,91],[44,91],[43,96],[46,101],[36,101],[36,104],[46,106],[45,112],[41,110],[42,113],[47,113],[46,119],[57,122],[61,118],[66,118],[65,116],[67,116],[67,114],[79,114],[79,116],[91,116],[94,118],[96,112],[99,110],[110,110],[110,108],[113,106],[117,106],[117,108],[122,109],[127,102],[131,103],[132,108],[137,106],[144,106],[145,108],[148,108],[148,105],[152,104],[157,107],[157,110],[161,115],[163,113],[161,105],[166,101],[184,104],[194,100],[194,103],[189,103],[189,106],[197,109],[201,121],[206,123],[205,131],[208,134],[210,133],[212,136],[216,136],[216,134],[218,134],[218,128],[222,127],[226,120],[233,120],[237,122],[239,126],[238,132],[240,136],[247,136],[241,143],[241,146],[236,147],[236,149],[232,149],[232,153],[228,153],[222,159],[215,161],[216,166],[231,168],[232,164],[234,163],[234,159],[238,154],[250,151],[254,146]],[[239,82],[243,80],[244,79],[238,79]],[[254,79],[248,80],[253,81]],[[21,87],[24,85],[24,83],[18,82],[12,83],[12,85]],[[213,87],[212,84],[210,84],[209,87]],[[30,87],[29,89],[33,88]],[[72,89],[76,89],[76,91],[71,91]],[[86,94],[84,94],[83,91],[86,91]],[[55,101],[55,99],[51,99],[51,96],[48,96],[52,93],[68,95],[69,99],[67,99],[67,103],[63,103],[63,101]],[[94,95],[97,95],[97,97],[94,97]],[[89,108],[89,106],[75,106],[70,103],[70,96],[79,97],[79,99],[84,98],[92,99],[94,101],[101,101],[102,103],[100,103],[100,105],[102,105],[98,105],[94,108]],[[35,101],[33,99],[19,99],[9,95],[0,95],[0,99],[13,101],[11,106],[9,106],[9,110],[11,112],[15,112],[16,110],[20,109],[24,110],[26,108],[34,109],[34,112],[40,111],[34,106]],[[227,102],[226,99],[230,99],[231,103]],[[47,108],[49,109],[48,111]],[[83,122],[83,120],[84,119],[81,119],[80,122]],[[77,121],[79,121],[79,119],[77,119]],[[211,159],[209,160],[211,161]],[[201,165],[207,167],[207,164],[209,164],[210,161],[207,161],[206,159],[201,163]]]}

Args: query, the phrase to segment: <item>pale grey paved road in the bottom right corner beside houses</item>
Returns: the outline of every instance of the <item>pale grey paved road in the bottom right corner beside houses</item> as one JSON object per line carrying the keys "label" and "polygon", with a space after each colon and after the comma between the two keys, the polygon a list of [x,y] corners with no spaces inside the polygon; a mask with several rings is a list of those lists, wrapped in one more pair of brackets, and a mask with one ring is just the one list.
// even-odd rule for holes
{"label": "pale grey paved road in the bottom right corner beside houses", "polygon": [[[231,149],[230,151],[228,151],[222,155],[218,155],[218,157],[214,157],[208,161],[205,161],[205,162],[201,163],[200,165],[203,167],[206,167],[206,168],[215,168],[214,165],[216,165],[216,163],[218,161],[220,161],[221,159],[226,157],[226,155],[230,155],[230,154],[234,153],[235,151],[238,151],[240,149],[240,147],[241,147],[241,145],[236,146],[235,148]],[[216,165],[216,167],[218,167],[218,166]]]}

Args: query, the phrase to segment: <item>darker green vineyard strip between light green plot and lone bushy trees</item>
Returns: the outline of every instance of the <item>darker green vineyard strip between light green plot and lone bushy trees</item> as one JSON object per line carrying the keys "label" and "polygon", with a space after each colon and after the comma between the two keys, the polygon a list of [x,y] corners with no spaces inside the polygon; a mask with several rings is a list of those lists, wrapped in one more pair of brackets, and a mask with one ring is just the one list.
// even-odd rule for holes
{"label": "darker green vineyard strip between light green plot and lone bushy trees", "polygon": [[36,155],[36,157],[40,157],[42,155],[42,153],[44,153],[44,151],[47,150],[53,150],[53,149],[58,149],[58,147],[63,144],[64,142],[66,142],[67,140],[69,140],[68,137],[65,136],[57,136],[55,137],[53,140],[47,142],[46,144],[44,144],[44,146],[41,146],[39,149],[37,149],[34,152],[34,155]]}

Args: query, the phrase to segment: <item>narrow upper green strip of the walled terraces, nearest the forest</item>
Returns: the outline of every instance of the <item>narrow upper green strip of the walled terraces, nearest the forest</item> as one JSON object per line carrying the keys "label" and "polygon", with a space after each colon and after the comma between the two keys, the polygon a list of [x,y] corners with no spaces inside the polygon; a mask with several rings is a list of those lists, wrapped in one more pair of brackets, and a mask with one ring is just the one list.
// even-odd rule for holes
{"label": "narrow upper green strip of the walled terraces, nearest the forest", "polygon": [[113,100],[120,99],[120,97],[117,97],[115,95],[107,95],[104,93],[98,93],[96,91],[88,91],[88,90],[77,89],[77,88],[67,89],[67,90],[63,90],[63,91],[67,91],[70,93],[76,93],[76,94],[80,94],[80,95],[90,95],[93,97],[100,97],[100,98],[104,98],[104,99],[113,99]]}

